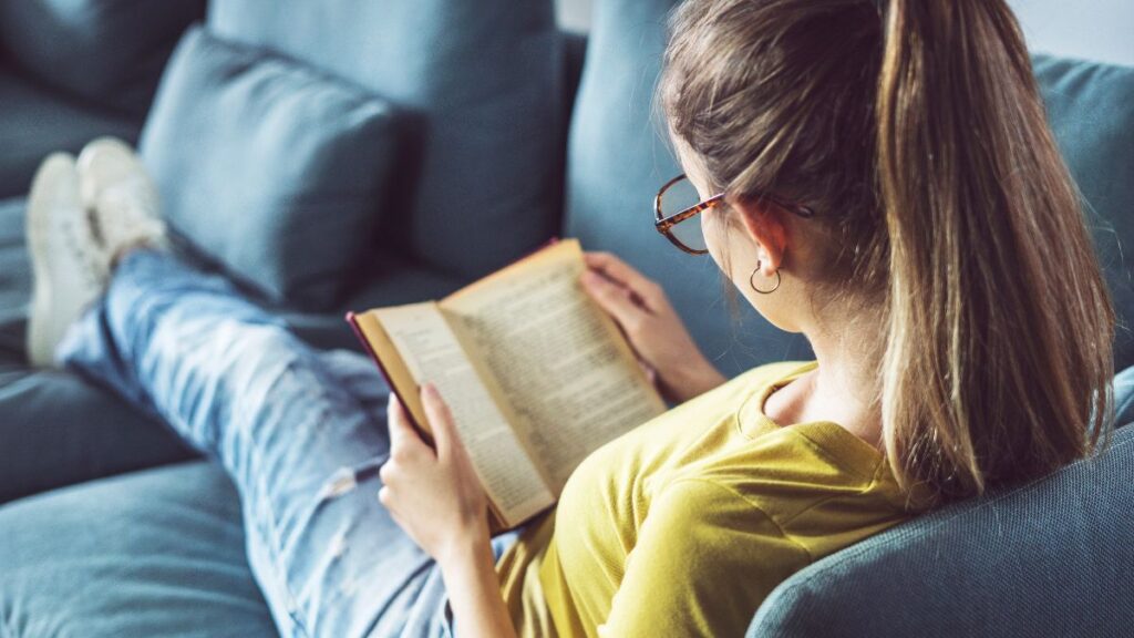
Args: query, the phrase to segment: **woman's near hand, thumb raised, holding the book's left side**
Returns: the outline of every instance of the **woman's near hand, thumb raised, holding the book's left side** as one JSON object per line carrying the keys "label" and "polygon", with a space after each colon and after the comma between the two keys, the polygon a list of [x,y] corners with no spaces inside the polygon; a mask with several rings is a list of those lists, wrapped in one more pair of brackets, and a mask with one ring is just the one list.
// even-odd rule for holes
{"label": "woman's near hand, thumb raised, holding the book's left side", "polygon": [[422,549],[445,565],[481,543],[488,545],[488,497],[452,414],[432,384],[422,387],[422,403],[435,450],[422,440],[390,393],[390,459],[379,470],[378,500]]}

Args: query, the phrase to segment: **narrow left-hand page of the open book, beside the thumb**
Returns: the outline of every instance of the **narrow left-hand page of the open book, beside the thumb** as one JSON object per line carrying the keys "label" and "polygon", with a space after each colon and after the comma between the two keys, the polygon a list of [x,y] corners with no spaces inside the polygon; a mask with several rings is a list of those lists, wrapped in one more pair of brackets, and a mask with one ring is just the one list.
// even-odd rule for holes
{"label": "narrow left-hand page of the open book, beside the thumb", "polygon": [[507,419],[434,303],[371,311],[420,387],[430,381],[449,405],[484,490],[508,524],[555,502]]}

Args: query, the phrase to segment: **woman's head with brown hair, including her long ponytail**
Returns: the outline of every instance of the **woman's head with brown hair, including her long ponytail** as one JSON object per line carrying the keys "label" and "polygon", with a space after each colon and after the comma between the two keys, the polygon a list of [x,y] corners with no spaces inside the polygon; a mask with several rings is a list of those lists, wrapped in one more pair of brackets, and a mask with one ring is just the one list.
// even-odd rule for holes
{"label": "woman's head with brown hair, including her long ponytail", "polygon": [[730,203],[713,257],[786,329],[871,316],[899,480],[948,500],[1083,455],[1114,314],[1006,3],[688,0],[671,32],[671,137]]}

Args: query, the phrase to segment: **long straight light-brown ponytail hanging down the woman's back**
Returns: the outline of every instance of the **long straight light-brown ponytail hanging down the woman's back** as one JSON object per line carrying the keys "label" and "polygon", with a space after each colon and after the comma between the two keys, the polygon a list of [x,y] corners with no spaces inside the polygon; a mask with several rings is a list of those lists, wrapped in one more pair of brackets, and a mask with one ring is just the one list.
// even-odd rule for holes
{"label": "long straight light-brown ponytail hanging down the woman's back", "polygon": [[1005,2],[891,0],[883,41],[883,438],[900,482],[947,501],[1098,442],[1114,312]]}

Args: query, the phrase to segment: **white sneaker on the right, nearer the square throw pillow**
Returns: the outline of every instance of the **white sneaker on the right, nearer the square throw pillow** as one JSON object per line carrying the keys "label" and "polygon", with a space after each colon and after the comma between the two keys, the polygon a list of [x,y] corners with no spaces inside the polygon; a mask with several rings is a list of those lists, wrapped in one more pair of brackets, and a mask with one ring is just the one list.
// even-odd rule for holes
{"label": "white sneaker on the right, nearer the square throw pillow", "polygon": [[132,247],[167,247],[158,187],[121,140],[100,137],[78,157],[83,202],[94,211],[96,232],[111,259]]}

